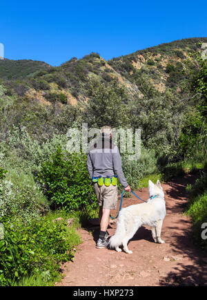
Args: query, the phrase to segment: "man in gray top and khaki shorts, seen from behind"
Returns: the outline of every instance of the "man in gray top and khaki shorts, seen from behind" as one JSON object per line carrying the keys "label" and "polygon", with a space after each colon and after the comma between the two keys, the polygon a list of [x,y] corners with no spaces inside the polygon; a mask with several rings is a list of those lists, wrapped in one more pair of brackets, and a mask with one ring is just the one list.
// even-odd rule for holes
{"label": "man in gray top and khaki shorts, seen from behind", "polygon": [[[101,128],[101,135],[97,143],[88,151],[87,169],[90,178],[99,178],[103,180],[107,176],[117,175],[119,182],[125,191],[130,191],[130,186],[124,177],[121,167],[121,156],[119,149],[112,144],[112,129],[110,126]],[[107,228],[110,218],[110,209],[117,207],[117,185],[110,184],[100,186],[98,182],[94,182],[95,194],[99,203],[99,222],[100,234],[96,247],[98,249],[108,247]]]}

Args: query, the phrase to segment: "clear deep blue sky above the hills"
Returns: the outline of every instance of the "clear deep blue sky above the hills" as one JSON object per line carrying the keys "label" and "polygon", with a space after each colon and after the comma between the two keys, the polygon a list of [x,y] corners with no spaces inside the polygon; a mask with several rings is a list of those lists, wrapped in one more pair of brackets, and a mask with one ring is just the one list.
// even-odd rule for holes
{"label": "clear deep blue sky above the hills", "polygon": [[59,66],[105,59],[188,37],[207,37],[207,1],[2,1],[0,43],[9,59]]}

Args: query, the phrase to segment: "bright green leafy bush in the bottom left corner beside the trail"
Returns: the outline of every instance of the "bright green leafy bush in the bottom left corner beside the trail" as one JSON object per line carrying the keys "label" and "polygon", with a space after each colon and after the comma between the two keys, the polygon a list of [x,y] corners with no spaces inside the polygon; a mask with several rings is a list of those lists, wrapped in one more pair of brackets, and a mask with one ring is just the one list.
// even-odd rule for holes
{"label": "bright green leafy bush in the bottom left corner beside the trail", "polygon": [[48,217],[27,225],[21,220],[0,221],[4,227],[4,238],[0,240],[0,285],[12,285],[32,274],[47,273],[48,280],[57,280],[60,263],[73,258],[72,248],[79,243],[66,221],[52,222]]}

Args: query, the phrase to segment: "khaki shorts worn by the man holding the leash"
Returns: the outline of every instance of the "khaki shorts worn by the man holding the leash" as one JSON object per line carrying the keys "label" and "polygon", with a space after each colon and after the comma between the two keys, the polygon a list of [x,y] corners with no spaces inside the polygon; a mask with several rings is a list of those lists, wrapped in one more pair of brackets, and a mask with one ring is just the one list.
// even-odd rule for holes
{"label": "khaki shorts worn by the man holding the leash", "polygon": [[97,182],[94,184],[95,194],[97,196],[99,206],[103,206],[105,209],[117,208],[118,189],[117,185],[102,185],[99,187]]}

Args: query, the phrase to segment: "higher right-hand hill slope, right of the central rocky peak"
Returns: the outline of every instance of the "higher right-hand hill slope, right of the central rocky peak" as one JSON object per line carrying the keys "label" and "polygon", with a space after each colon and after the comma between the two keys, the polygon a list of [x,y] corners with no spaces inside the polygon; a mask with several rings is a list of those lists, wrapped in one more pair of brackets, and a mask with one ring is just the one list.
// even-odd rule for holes
{"label": "higher right-hand hill slope, right of the central rocky peak", "polygon": [[193,63],[187,64],[188,59],[192,60],[190,53],[201,52],[201,44],[206,41],[207,38],[172,41],[111,59],[108,64],[141,90],[148,84],[160,93],[166,88],[181,93],[185,91],[188,75],[195,68]]}

